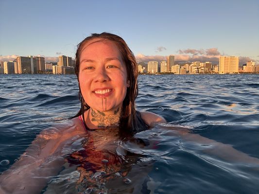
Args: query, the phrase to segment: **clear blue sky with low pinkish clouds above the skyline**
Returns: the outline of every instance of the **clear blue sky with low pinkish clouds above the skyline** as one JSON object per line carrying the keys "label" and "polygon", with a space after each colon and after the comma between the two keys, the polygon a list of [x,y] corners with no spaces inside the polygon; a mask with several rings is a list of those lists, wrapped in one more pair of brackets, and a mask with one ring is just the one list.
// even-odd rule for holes
{"label": "clear blue sky with low pinkish clouds above the skyline", "polygon": [[259,65],[259,0],[0,0],[0,60],[74,58],[91,33],[121,36],[138,62],[239,56]]}

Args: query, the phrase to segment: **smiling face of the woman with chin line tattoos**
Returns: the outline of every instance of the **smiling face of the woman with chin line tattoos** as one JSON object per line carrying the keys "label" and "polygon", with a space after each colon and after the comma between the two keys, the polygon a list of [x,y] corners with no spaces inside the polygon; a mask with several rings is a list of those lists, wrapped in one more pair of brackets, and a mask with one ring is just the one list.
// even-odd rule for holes
{"label": "smiling face of the woman with chin line tattoos", "polygon": [[79,83],[82,96],[94,110],[114,112],[126,96],[127,70],[115,43],[94,39],[83,47]]}

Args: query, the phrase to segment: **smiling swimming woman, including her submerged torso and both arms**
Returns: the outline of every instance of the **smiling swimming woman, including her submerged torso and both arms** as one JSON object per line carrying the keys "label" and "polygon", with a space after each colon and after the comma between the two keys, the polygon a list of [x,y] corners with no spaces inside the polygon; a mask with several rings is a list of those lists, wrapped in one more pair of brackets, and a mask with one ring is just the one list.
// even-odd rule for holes
{"label": "smiling swimming woman, including her submerged torso and both arms", "polygon": [[[91,190],[86,191],[89,186],[97,187],[100,192],[114,187],[124,193],[148,189],[145,178],[152,164],[141,164],[141,169],[132,165],[138,162],[138,154],[126,154],[123,149],[118,149],[118,140],[165,120],[156,114],[135,109],[138,70],[131,50],[117,35],[106,32],[92,34],[78,45],[75,72],[79,83],[80,111],[69,124],[46,129],[36,137],[20,160],[0,176],[0,193],[40,193],[53,179],[52,176],[62,175],[62,166],[68,168],[68,164],[80,172],[76,178],[80,183],[77,188],[79,190],[82,186],[82,192],[91,193]],[[166,134],[180,137],[181,141],[207,145],[202,146],[203,152],[226,161],[259,164],[259,159],[232,146],[188,133],[186,129],[171,126],[163,126],[163,129],[170,129]],[[151,143],[136,142],[153,148]],[[135,182],[120,188],[116,176]],[[124,181],[130,182],[128,179]],[[104,186],[104,183],[107,184]],[[56,189],[55,184],[48,184],[49,193],[61,193],[52,192]]]}

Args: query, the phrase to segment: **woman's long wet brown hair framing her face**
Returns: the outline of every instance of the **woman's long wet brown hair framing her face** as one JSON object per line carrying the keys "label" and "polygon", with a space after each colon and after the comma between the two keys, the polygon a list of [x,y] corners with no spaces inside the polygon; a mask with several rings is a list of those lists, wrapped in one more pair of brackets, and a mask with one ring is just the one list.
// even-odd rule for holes
{"label": "woman's long wet brown hair framing her face", "polygon": [[[129,49],[126,42],[120,36],[112,33],[107,33],[107,32],[103,32],[100,34],[92,33],[90,36],[86,37],[81,43],[77,45],[77,51],[75,56],[75,74],[78,80],[79,99],[81,101],[81,109],[73,117],[77,117],[82,114],[83,120],[85,122],[84,113],[90,108],[87,105],[81,93],[79,72],[80,72],[80,56],[81,56],[82,50],[84,49],[84,46],[89,41],[94,39],[96,39],[96,42],[108,40],[115,43],[117,48],[120,50],[122,60],[126,65],[127,81],[130,81],[130,86],[127,87],[126,97],[122,102],[120,129],[122,129],[123,131],[126,130],[127,132],[130,132],[130,133],[135,133],[135,132],[138,132],[139,130],[145,130],[147,128],[147,125],[143,122],[142,119],[138,118],[140,114],[137,115],[136,108],[135,108],[135,99],[138,96],[138,83],[137,83],[138,65],[136,62],[136,58],[133,52]],[[86,123],[85,123],[85,126],[86,126]]]}

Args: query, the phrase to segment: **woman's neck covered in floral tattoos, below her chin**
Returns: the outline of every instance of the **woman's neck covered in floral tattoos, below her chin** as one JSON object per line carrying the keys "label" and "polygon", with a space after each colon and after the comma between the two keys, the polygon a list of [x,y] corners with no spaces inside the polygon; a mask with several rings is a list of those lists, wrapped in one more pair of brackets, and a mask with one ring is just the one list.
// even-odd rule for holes
{"label": "woman's neck covered in floral tattoos, below her chin", "polygon": [[92,125],[95,127],[118,127],[121,117],[121,109],[118,108],[115,111],[101,112],[90,108],[88,115]]}

